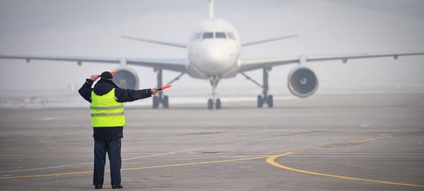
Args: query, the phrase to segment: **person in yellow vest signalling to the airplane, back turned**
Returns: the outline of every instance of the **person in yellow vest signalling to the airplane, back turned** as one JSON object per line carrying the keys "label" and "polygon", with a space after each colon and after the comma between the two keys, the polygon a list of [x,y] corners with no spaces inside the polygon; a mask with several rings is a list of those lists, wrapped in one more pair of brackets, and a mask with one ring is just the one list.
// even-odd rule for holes
{"label": "person in yellow vest signalling to the airplane, back turned", "polygon": [[[95,80],[100,80],[92,89]],[[112,189],[123,188],[121,185],[121,139],[125,125],[124,105],[126,101],[136,101],[158,93],[156,88],[145,90],[124,90],[112,82],[113,75],[91,75],[90,79],[78,90],[89,101],[91,123],[94,137],[94,173],[93,185],[101,189],[105,175],[106,153],[110,161],[110,179]]]}

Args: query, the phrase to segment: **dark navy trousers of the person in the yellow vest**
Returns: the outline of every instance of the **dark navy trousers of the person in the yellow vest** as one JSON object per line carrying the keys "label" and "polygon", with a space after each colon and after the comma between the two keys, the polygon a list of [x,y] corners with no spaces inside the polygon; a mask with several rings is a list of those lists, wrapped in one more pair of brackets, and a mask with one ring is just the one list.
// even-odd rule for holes
{"label": "dark navy trousers of the person in the yellow vest", "polygon": [[110,180],[113,185],[121,185],[121,139],[94,141],[93,185],[103,185],[106,153],[110,162]]}

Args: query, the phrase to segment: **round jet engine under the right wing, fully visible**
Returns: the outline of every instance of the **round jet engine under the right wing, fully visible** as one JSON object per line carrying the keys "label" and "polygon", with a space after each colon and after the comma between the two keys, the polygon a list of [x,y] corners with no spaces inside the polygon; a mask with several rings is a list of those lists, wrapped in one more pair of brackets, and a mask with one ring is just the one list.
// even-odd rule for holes
{"label": "round jet engine under the right wing, fully visible", "polygon": [[318,78],[314,70],[305,66],[294,68],[288,74],[288,89],[298,97],[309,97],[318,89]]}

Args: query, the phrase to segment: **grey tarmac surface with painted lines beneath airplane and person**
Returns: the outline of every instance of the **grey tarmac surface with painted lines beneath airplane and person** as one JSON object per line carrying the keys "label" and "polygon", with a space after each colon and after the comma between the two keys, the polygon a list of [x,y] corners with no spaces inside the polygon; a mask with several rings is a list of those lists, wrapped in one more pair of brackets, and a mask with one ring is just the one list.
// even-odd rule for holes
{"label": "grey tarmac surface with painted lines beneath airplane and person", "polygon": [[[424,190],[424,94],[255,106],[126,108],[124,190]],[[88,104],[0,109],[0,121],[0,190],[94,189]]]}

